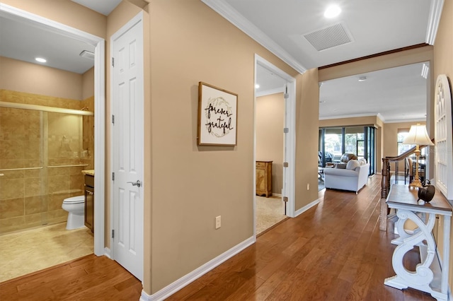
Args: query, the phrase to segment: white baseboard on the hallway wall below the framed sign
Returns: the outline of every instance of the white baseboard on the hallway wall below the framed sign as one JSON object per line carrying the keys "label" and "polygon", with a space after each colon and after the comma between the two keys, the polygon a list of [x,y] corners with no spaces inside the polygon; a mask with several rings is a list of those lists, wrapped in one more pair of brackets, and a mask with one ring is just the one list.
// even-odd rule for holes
{"label": "white baseboard on the hallway wall below the framed sign", "polygon": [[140,295],[140,301],[160,301],[164,300],[166,297],[173,295],[181,288],[184,288],[189,283],[197,280],[201,276],[205,275],[205,273],[211,271],[219,264],[222,264],[227,259],[230,259],[232,256],[238,254],[246,247],[250,246],[251,244],[256,242],[255,237],[250,237],[247,240],[244,240],[240,244],[236,244],[236,246],[232,247],[228,251],[220,254],[216,258],[208,261],[206,264],[203,264],[199,268],[196,268],[194,271],[191,271],[187,275],[179,278],[177,281],[167,285],[165,288],[162,288],[158,292],[154,293],[153,295],[148,295],[144,290],[142,290],[142,295]]}

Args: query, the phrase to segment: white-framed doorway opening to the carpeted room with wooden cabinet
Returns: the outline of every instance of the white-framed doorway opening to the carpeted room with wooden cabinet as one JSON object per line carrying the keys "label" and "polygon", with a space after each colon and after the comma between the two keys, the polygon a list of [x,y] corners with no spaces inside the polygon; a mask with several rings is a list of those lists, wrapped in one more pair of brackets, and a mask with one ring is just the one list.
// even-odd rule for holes
{"label": "white-framed doorway opening to the carpeted room with wooden cabinet", "polygon": [[294,217],[295,80],[256,55],[255,232]]}

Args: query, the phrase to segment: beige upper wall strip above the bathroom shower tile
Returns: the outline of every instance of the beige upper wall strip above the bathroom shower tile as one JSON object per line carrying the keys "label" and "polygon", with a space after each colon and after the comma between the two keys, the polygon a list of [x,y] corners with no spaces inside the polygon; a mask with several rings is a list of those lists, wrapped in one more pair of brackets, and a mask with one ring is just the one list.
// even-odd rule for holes
{"label": "beige upper wall strip above the bathroom shower tile", "polygon": [[82,75],[0,57],[0,89],[82,100]]}

